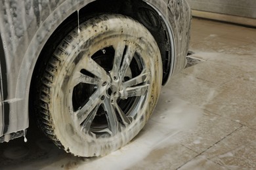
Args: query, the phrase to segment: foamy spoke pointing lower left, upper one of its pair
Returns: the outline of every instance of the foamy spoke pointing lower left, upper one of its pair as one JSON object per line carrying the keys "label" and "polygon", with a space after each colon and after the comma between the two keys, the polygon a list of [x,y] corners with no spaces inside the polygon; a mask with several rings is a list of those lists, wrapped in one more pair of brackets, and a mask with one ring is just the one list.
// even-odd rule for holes
{"label": "foamy spoke pointing lower left, upper one of its pair", "polygon": [[100,94],[98,90],[89,98],[89,101],[75,112],[79,124],[82,124],[89,114],[100,105]]}

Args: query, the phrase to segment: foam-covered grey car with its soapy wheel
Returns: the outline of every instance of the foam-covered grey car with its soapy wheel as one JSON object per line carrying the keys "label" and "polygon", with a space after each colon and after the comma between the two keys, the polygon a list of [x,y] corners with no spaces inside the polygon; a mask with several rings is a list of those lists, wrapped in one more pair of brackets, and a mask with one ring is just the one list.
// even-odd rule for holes
{"label": "foam-covered grey car with its soapy wheel", "polygon": [[129,143],[186,65],[184,0],[0,2],[0,142],[29,120],[75,156]]}

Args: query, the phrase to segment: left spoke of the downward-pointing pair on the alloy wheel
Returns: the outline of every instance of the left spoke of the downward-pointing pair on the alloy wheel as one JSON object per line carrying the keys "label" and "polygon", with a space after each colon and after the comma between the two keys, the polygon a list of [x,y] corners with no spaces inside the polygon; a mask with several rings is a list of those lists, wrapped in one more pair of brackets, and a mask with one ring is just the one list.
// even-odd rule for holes
{"label": "left spoke of the downward-pointing pair on the alloy wheel", "polygon": [[107,113],[106,118],[108,120],[108,127],[112,132],[111,135],[116,135],[119,129],[119,122],[116,116],[116,110],[114,109],[113,105],[110,103],[109,99],[106,99],[103,103]]}

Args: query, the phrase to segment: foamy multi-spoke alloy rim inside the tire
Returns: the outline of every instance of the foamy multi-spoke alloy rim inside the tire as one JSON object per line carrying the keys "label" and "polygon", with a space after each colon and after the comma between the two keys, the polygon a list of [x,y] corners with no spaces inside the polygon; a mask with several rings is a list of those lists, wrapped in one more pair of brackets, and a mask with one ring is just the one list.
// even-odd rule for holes
{"label": "foamy multi-spoke alloy rim inside the tire", "polygon": [[[90,57],[85,51],[77,55],[82,59],[70,78],[72,102],[68,107],[83,133],[111,137],[135,122],[151,82],[150,68],[142,55],[139,45],[126,41],[99,49]],[[85,95],[83,92],[88,96],[82,100],[78,97],[82,102],[77,105],[74,98]]]}

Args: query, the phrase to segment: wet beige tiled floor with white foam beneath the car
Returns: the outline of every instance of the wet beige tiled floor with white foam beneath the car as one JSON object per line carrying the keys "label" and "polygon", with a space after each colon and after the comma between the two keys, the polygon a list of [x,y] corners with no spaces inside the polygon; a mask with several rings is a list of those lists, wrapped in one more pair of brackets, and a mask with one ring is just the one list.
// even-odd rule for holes
{"label": "wet beige tiled floor with white foam beneath the car", "polygon": [[58,150],[36,127],[0,144],[0,169],[256,169],[256,29],[193,18],[190,58],[138,137],[102,158]]}

